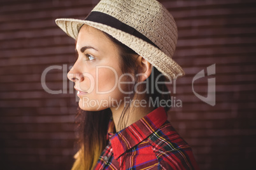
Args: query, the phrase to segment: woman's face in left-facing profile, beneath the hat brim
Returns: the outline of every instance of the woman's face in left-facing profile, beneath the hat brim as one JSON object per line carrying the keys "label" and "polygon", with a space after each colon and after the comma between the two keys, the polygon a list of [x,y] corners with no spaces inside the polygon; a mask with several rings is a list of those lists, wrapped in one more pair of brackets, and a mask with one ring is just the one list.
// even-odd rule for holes
{"label": "woman's face in left-facing profile, beneath the hat brim", "polygon": [[118,85],[122,70],[117,45],[100,30],[83,25],[76,51],[78,59],[68,78],[75,82],[79,107],[88,111],[117,107],[124,100],[120,91],[124,84]]}

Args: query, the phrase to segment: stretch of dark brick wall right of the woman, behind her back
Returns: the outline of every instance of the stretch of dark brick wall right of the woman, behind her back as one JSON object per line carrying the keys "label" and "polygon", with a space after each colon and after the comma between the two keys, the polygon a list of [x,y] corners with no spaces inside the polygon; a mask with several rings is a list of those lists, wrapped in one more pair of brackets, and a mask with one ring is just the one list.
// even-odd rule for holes
{"label": "stretch of dark brick wall right of the woman, behind her back", "polygon": [[[255,1],[165,1],[179,30],[174,58],[187,75],[177,81],[182,108],[170,121],[192,146],[201,169],[255,169]],[[215,77],[216,105],[199,100],[192,79],[210,65],[216,74],[194,81],[206,96]],[[253,140],[254,139],[254,140]]]}

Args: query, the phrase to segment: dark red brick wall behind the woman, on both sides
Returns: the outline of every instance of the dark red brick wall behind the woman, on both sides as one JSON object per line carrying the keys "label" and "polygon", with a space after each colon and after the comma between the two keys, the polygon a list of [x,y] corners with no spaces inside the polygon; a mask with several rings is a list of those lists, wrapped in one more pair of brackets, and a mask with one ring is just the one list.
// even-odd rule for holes
{"label": "dark red brick wall behind the woman, on both sides", "polygon": [[[97,0],[0,1],[0,162],[3,169],[70,169],[76,112],[65,68],[75,42],[55,18],[85,18]],[[256,2],[161,1],[178,25],[175,60],[186,75],[176,82],[182,107],[169,121],[191,145],[201,169],[255,169]],[[215,64],[216,74],[194,82],[207,95],[216,81],[216,105],[199,100],[192,79]],[[41,86],[43,71],[50,95]],[[69,86],[71,88],[69,88]],[[173,91],[173,87],[171,87]],[[174,92],[174,91],[173,91]]]}

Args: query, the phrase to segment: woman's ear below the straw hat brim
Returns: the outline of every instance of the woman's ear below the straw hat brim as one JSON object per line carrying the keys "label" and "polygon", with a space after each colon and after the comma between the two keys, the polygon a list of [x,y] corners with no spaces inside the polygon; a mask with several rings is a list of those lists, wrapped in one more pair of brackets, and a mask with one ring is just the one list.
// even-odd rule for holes
{"label": "woman's ear below the straw hat brim", "polygon": [[137,67],[139,72],[139,81],[143,82],[145,81],[152,72],[152,64],[145,60],[142,56],[138,56],[137,58]]}

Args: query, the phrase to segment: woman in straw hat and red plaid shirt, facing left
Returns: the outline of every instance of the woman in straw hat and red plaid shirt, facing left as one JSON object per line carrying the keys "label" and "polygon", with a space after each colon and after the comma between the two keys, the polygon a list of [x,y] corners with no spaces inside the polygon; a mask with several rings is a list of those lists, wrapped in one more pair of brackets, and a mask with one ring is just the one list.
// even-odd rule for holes
{"label": "woman in straw hat and red plaid shirt, facing left", "polygon": [[191,148],[167,121],[167,79],[177,29],[155,0],[102,0],[85,18],[57,25],[76,40],[68,73],[79,96],[80,150],[73,169],[198,169]]}

